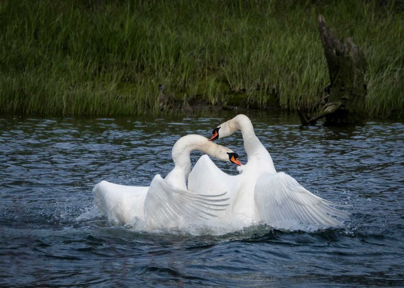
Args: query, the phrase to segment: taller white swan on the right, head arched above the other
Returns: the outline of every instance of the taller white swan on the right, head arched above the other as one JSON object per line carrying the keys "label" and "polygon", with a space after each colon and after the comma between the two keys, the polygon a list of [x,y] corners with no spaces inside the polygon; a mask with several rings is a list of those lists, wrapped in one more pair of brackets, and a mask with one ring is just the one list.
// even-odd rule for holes
{"label": "taller white swan on the right, head arched above the other", "polygon": [[238,227],[264,221],[276,228],[298,229],[301,225],[340,226],[332,216],[349,214],[332,206],[344,206],[324,200],[299,185],[284,172],[276,172],[272,158],[254,133],[251,121],[243,114],[219,125],[211,140],[227,137],[241,130],[248,161],[239,168],[240,175],[221,171],[209,157],[200,157],[193,167],[188,188],[205,181],[211,193],[227,191],[230,206],[219,219]]}

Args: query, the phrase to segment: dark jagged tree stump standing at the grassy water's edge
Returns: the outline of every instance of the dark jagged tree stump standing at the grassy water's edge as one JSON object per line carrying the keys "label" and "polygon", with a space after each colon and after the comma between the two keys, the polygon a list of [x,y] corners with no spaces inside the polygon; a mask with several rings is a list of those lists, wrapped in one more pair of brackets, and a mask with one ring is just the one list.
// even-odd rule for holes
{"label": "dark jagged tree stump standing at the grassy water's edge", "polygon": [[331,33],[323,16],[319,16],[319,29],[328,65],[330,84],[324,91],[323,107],[320,112],[310,114],[298,110],[302,125],[314,125],[325,117],[324,125],[347,125],[363,121],[365,97],[367,95],[364,53],[351,38],[345,43]]}

